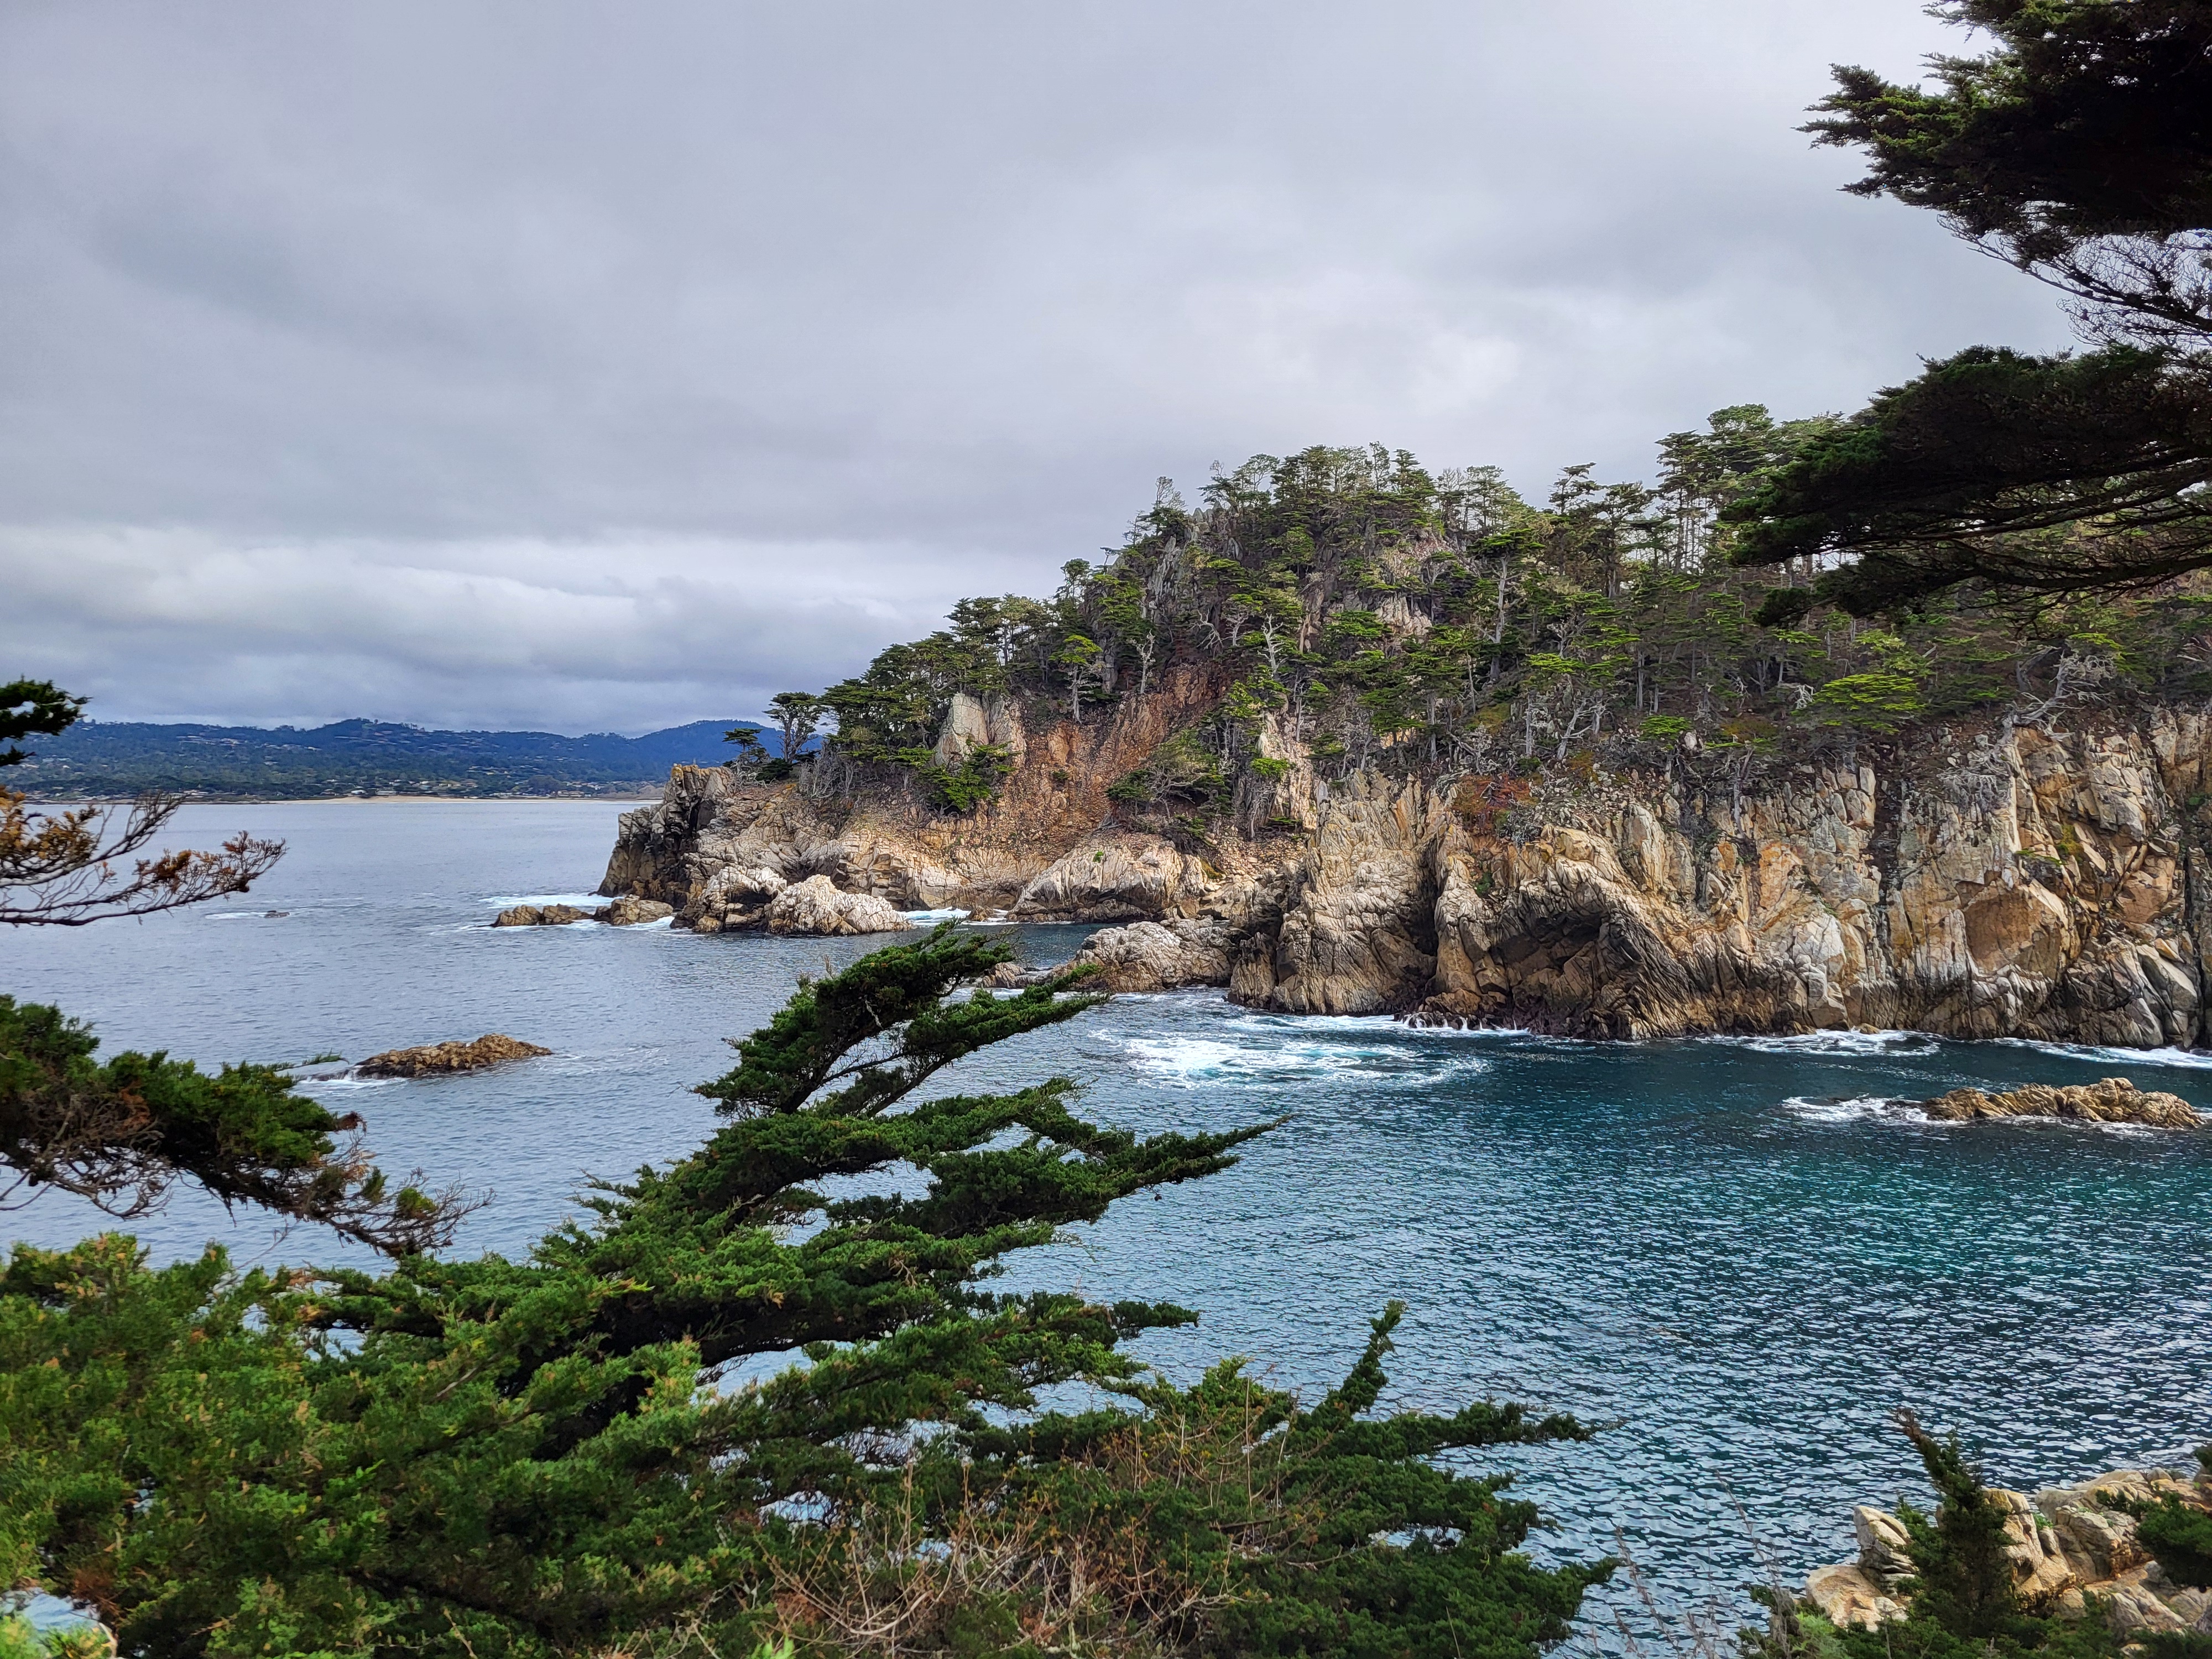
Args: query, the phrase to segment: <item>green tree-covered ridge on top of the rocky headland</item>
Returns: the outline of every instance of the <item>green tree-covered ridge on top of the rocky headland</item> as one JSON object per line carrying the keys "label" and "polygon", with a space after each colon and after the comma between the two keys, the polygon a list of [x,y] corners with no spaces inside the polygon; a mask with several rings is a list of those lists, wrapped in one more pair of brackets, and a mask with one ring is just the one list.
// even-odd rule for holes
{"label": "green tree-covered ridge on top of the rocky headland", "polygon": [[1818,555],[1745,571],[1767,529],[1734,509],[1834,434],[1721,409],[1659,442],[1655,482],[1577,465],[1542,502],[1495,467],[1429,471],[1383,447],[1256,456],[1194,507],[1161,480],[1124,546],[1068,562],[1048,599],[964,599],[940,633],[827,688],[827,754],[841,787],[911,768],[964,810],[995,772],[971,799],[949,787],[931,743],[956,692],[1088,723],[1203,668],[1219,703],[1110,794],[1228,812],[1250,834],[1305,759],[1321,779],[1681,761],[1741,785],[1761,754],[1922,717],[2212,688],[2212,597],[2194,580],[2051,599],[1964,584],[1869,626],[1827,602]]}

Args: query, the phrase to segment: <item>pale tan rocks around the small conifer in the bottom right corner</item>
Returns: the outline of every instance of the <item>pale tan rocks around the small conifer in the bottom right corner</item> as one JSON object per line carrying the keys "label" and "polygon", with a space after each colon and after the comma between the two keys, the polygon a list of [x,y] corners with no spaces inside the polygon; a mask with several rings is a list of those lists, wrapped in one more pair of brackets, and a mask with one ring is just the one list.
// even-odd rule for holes
{"label": "pale tan rocks around the small conifer in the bottom right corner", "polygon": [[[2022,1606],[2079,1615],[2095,1597],[2121,1637],[2212,1635],[2212,1593],[2166,1577],[2126,1511],[2166,1495],[2212,1511],[2212,1475],[2190,1482],[2163,1469],[2117,1469],[2033,1498],[1991,1486],[1989,1498],[2004,1511],[2004,1557]],[[1858,1559],[1816,1568],[1805,1582],[1805,1599],[1836,1626],[1874,1630],[1902,1619],[1902,1582],[1913,1573],[1905,1524],[1885,1509],[1860,1504],[1851,1511],[1851,1531]]]}

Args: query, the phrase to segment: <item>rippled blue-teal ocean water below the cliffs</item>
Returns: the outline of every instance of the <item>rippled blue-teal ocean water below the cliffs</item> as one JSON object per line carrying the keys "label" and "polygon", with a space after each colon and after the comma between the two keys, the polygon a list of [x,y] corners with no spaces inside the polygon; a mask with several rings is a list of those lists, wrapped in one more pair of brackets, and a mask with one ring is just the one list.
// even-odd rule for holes
{"label": "rippled blue-teal ocean water below the cliffs", "polygon": [[[491,1190],[462,1250],[518,1252],[588,1175],[688,1150],[794,978],[858,940],[664,927],[498,929],[588,896],[611,803],[192,807],[181,830],[290,843],[246,900],[0,936],[0,991],[104,1042],[204,1062],[345,1057],[504,1031],[551,1060],[436,1082],[319,1084],[387,1168]],[[283,911],[270,916],[268,911]],[[1088,929],[995,929],[1024,960]],[[1958,1084],[2128,1075],[2212,1106],[2212,1055],[1829,1035],[1599,1046],[1294,1020],[1212,993],[1121,998],[978,1055],[947,1088],[1077,1077],[1137,1128],[1290,1113],[1234,1170],[1137,1197],[1015,1265],[1015,1285],[1203,1312],[1139,1354],[1192,1376],[1250,1354],[1305,1391],[1409,1305],[1389,1405],[1517,1398],[1613,1422],[1579,1447],[1473,1458],[1542,1502],[1544,1557],[1626,1548],[1672,1613],[1747,1615],[1747,1582],[1851,1553],[1849,1504],[1922,1495],[1887,1427],[1911,1405],[1997,1484],[2188,1460],[2212,1440],[2212,1135],[1938,1126],[1885,1106]],[[0,1219],[100,1225],[40,1197]],[[161,1256],[332,1261],[312,1232],[179,1192],[131,1223]],[[1626,1588],[1593,1597],[1597,1646]]]}

